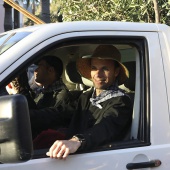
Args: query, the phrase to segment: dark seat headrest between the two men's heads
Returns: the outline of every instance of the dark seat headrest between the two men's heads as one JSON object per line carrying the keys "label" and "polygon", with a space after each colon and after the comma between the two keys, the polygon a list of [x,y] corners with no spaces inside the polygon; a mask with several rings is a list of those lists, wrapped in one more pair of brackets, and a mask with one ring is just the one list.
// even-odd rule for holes
{"label": "dark seat headrest between the two men's heads", "polygon": [[76,61],[71,61],[66,65],[65,76],[70,83],[83,84],[81,75],[76,68]]}

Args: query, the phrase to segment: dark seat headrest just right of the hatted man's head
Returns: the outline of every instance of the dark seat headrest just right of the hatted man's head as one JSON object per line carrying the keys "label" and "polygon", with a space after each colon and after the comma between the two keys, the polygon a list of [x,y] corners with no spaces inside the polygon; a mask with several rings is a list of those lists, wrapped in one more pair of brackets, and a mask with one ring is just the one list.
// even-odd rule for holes
{"label": "dark seat headrest just right of the hatted man's head", "polygon": [[129,70],[129,78],[125,81],[124,86],[131,91],[135,91],[135,82],[136,82],[136,62],[129,61],[123,63],[126,68]]}

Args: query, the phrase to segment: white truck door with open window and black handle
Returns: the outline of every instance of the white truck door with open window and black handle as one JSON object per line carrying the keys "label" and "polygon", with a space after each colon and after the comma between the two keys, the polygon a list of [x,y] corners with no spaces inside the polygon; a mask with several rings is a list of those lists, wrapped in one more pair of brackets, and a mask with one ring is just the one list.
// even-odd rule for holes
{"label": "white truck door with open window and black handle", "polygon": [[[66,160],[48,158],[46,151],[49,148],[34,150],[32,160],[22,164],[1,164],[0,170],[170,169],[169,106],[159,43],[157,32],[73,32],[49,38],[21,56],[9,68],[13,70],[7,70],[9,74],[28,67],[44,53],[59,56],[67,65],[80,56],[91,55],[99,44],[116,46],[121,52],[122,62],[129,69],[129,82],[120,88],[126,90],[134,100],[133,121],[129,133],[122,141],[113,141],[86,153],[72,154]],[[69,89],[74,91],[80,83],[69,82],[66,74],[63,79]],[[82,82],[83,86],[90,88],[87,80]]]}

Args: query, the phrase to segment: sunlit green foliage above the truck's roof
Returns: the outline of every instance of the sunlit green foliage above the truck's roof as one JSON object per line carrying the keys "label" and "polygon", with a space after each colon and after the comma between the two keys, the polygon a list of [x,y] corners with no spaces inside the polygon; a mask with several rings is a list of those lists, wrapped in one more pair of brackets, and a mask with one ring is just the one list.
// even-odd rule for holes
{"label": "sunlit green foliage above the truck's roof", "polygon": [[[170,0],[158,5],[161,23],[170,25]],[[53,0],[51,8],[52,22],[61,15],[63,21],[155,22],[153,0]]]}

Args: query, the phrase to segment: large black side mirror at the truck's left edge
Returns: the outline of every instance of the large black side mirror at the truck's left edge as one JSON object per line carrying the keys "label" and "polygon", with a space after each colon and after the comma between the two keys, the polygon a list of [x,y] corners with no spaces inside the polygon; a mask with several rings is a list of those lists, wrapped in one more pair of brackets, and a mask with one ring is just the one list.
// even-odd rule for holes
{"label": "large black side mirror at the truck's left edge", "polygon": [[32,155],[27,99],[20,94],[0,97],[0,162],[24,162]]}

